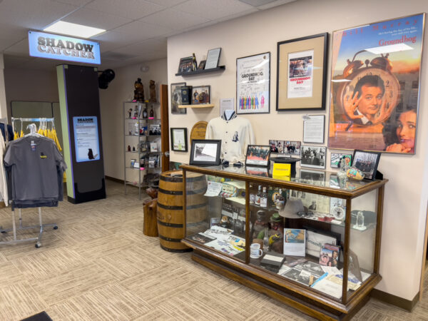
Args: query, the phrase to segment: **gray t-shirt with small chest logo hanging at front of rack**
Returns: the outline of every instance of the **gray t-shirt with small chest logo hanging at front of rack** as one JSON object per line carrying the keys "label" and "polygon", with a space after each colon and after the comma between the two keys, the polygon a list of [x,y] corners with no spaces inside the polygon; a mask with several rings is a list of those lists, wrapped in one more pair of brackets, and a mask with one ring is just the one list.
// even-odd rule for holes
{"label": "gray t-shirt with small chest logo hanging at front of rack", "polygon": [[17,203],[62,200],[62,173],[67,166],[51,139],[24,136],[12,141],[4,165],[11,168],[11,198]]}

